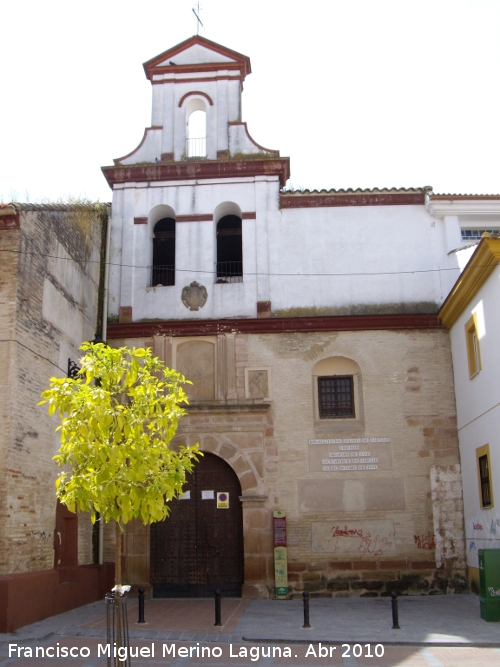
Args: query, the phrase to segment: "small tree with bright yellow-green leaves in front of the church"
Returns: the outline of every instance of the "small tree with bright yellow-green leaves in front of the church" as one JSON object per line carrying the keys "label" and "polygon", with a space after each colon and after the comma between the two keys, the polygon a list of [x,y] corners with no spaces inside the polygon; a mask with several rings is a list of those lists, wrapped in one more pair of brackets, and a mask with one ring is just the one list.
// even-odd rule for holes
{"label": "small tree with bright yellow-green leaves in front of the church", "polygon": [[56,496],[71,512],[89,511],[92,522],[116,524],[115,584],[121,594],[121,531],[168,516],[199,455],[198,446],[170,445],[187,397],[185,378],[150,349],[84,343],[75,379],[51,378],[39,405],[59,412],[61,446],[54,457],[64,470]]}

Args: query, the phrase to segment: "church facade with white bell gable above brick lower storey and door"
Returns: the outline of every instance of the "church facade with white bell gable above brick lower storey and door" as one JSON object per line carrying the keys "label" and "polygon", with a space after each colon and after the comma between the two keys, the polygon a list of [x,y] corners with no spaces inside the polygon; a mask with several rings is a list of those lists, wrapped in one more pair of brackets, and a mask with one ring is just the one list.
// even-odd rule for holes
{"label": "church facade with white bell gable above brick lower storey and door", "polygon": [[163,525],[128,528],[129,583],[158,596],[463,590],[437,316],[458,222],[433,215],[430,188],[287,190],[288,158],[242,120],[246,56],[192,37],[145,71],[151,127],[103,168],[107,339],[150,346],[193,382],[175,442],[205,456]]}

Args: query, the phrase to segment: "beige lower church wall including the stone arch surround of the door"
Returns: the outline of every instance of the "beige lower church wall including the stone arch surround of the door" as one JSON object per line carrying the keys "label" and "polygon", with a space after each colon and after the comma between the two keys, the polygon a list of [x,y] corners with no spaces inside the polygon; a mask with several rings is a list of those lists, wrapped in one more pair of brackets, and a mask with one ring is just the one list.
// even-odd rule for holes
{"label": "beige lower church wall including the stone arch surround of the door", "polygon": [[[160,347],[172,350],[182,342],[173,337]],[[115,344],[158,345],[148,338]],[[339,357],[360,370],[355,426],[354,420],[320,420],[315,414],[314,369]],[[234,356],[224,359],[234,367],[217,362],[207,372],[234,372],[236,397],[196,399],[176,441],[199,442],[238,474],[244,595],[273,595],[276,509],[287,517],[291,595],[305,589],[325,596],[464,590],[462,495],[445,330],[237,334]],[[250,371],[252,381],[257,378],[253,398]],[[268,396],[256,398],[259,387]],[[346,441],[370,450],[377,469],[323,469],[330,450],[339,455]]]}

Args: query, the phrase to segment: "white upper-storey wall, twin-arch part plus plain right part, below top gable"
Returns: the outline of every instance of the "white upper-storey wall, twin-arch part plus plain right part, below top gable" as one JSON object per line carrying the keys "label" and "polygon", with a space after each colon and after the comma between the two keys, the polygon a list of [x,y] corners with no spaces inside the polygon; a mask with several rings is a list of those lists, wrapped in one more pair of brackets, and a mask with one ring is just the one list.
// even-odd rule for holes
{"label": "white upper-storey wall, twin-arch part plus plain right part, below top gable", "polygon": [[[459,230],[423,206],[280,210],[278,181],[266,176],[140,186],[115,189],[112,226],[112,257],[123,266],[111,267],[111,309],[132,306],[134,320],[255,317],[258,301],[283,315],[429,312],[458,275],[447,247]],[[176,216],[213,215],[226,201],[256,215],[243,221],[243,283],[214,284],[216,221],[192,221],[176,225],[175,286],[150,288],[155,221],[134,225],[134,218],[159,205]],[[181,301],[192,281],[209,293],[199,311]]]}

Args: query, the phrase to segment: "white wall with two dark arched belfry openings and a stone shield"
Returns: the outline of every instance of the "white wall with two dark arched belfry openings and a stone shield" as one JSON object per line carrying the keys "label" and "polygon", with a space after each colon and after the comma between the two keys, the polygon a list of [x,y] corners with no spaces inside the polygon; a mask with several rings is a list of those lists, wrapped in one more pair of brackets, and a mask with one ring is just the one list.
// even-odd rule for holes
{"label": "white wall with two dark arched belfry openings and a stone shield", "polygon": [[[110,313],[118,315],[120,306],[132,306],[133,319],[254,317],[256,314],[257,273],[263,274],[263,297],[268,295],[267,203],[274,201],[276,216],[277,179],[228,179],[202,185],[191,182],[168,186],[118,188],[114,193],[117,215],[113,216],[110,267]],[[219,204],[234,202],[242,212],[255,213],[257,219],[242,224],[244,282],[216,284],[216,220],[177,222],[176,284],[150,287],[153,230],[149,224],[134,224],[134,218],[147,218],[156,206],[171,207],[175,216],[214,214]],[[259,202],[259,203],[257,203]],[[257,229],[260,233],[257,233]],[[257,248],[259,243],[259,248]],[[116,248],[122,248],[121,256]],[[116,266],[114,264],[121,264]],[[199,311],[189,311],[182,303],[185,286],[197,281],[208,291],[208,301]],[[265,300],[265,299],[261,299]]]}

